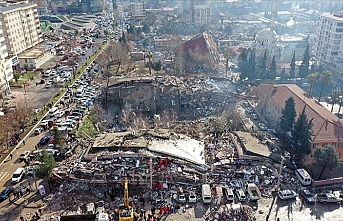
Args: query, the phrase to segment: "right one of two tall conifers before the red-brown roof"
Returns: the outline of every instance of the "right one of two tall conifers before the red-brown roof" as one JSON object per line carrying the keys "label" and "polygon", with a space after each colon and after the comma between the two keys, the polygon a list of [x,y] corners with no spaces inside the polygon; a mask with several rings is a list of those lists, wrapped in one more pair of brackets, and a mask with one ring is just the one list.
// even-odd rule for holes
{"label": "right one of two tall conifers before the red-brown roof", "polygon": [[292,131],[294,151],[302,157],[311,153],[311,136],[313,126],[313,118],[308,120],[305,110],[306,106],[300,113]]}

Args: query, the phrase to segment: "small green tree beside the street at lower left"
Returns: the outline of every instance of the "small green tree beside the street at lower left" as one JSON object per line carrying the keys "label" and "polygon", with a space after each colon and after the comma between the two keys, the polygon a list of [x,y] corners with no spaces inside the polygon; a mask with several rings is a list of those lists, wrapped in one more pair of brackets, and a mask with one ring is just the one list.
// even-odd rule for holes
{"label": "small green tree beside the street at lower left", "polygon": [[35,168],[37,176],[43,179],[49,177],[52,170],[56,166],[56,161],[54,157],[48,154],[46,150],[42,150],[41,155],[38,158],[38,161],[41,163]]}

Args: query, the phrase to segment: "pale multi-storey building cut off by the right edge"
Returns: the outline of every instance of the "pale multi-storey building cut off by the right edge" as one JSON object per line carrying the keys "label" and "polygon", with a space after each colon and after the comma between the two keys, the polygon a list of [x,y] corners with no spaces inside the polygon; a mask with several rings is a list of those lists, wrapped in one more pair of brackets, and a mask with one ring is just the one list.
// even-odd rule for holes
{"label": "pale multi-storey building cut off by the right edge", "polygon": [[343,13],[323,13],[317,22],[315,55],[337,72],[343,71]]}

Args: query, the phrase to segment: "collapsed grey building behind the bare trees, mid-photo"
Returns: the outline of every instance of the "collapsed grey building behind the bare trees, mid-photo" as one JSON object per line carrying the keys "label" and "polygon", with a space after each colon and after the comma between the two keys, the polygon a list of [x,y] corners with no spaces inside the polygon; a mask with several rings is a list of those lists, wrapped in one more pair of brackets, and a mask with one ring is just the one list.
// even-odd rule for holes
{"label": "collapsed grey building behind the bare trees, mid-photo", "polygon": [[154,116],[164,111],[178,115],[209,116],[232,100],[225,88],[208,77],[132,77],[111,79],[108,105],[120,115],[134,111]]}

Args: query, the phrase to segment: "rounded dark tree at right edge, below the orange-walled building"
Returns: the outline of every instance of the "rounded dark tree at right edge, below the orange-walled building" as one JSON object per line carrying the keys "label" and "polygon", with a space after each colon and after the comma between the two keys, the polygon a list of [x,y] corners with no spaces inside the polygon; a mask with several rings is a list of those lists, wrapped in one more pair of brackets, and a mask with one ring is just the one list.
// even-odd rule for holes
{"label": "rounded dark tree at right edge, below the orange-walled building", "polygon": [[319,166],[323,167],[318,179],[322,177],[325,168],[328,168],[331,172],[340,165],[339,153],[333,146],[316,147],[313,152],[313,158]]}

